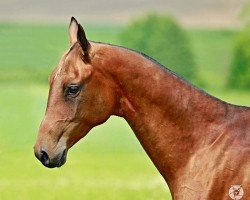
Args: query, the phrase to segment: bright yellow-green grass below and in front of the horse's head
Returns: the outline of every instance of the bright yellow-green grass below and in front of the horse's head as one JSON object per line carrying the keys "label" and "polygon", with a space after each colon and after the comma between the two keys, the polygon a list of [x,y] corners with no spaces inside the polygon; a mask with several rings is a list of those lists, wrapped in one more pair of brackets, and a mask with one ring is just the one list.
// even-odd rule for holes
{"label": "bright yellow-green grass below and in front of the horse's head", "polygon": [[47,87],[6,83],[0,90],[0,199],[170,198],[130,128],[114,117],[77,144],[64,167],[43,167],[32,146]]}

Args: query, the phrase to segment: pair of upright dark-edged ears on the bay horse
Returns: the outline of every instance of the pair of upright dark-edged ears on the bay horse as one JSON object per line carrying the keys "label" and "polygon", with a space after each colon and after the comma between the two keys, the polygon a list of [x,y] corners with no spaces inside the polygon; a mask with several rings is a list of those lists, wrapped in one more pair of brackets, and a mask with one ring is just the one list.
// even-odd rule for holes
{"label": "pair of upright dark-edged ears on the bay horse", "polygon": [[90,44],[86,38],[81,24],[79,24],[74,17],[71,18],[69,24],[69,41],[70,45],[79,42],[85,55],[88,54]]}

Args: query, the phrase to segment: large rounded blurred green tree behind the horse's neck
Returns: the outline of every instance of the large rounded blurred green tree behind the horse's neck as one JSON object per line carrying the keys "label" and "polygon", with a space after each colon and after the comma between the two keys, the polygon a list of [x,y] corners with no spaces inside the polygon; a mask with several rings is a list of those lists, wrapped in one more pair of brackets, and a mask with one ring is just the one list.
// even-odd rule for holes
{"label": "large rounded blurred green tree behind the horse's neck", "polygon": [[188,80],[196,80],[188,37],[173,18],[151,13],[127,26],[120,39],[124,46],[149,55]]}

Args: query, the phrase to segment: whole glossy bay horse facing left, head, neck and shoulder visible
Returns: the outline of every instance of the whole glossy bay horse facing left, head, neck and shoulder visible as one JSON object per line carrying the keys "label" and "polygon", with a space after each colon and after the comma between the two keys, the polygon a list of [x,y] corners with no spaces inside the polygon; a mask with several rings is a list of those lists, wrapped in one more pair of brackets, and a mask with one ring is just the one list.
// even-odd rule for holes
{"label": "whole glossy bay horse facing left, head, neck and shoulder visible", "polygon": [[44,166],[62,166],[69,148],[116,115],[128,122],[173,199],[230,199],[233,185],[250,198],[249,107],[199,90],[142,53],[88,41],[73,17],[69,40],[49,77],[34,146]]}

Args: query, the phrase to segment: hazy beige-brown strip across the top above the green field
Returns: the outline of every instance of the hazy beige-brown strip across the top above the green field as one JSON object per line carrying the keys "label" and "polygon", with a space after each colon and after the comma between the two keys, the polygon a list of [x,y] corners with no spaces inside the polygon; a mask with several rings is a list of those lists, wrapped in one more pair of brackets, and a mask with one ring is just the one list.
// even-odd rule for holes
{"label": "hazy beige-brown strip across the top above the green field", "polygon": [[0,22],[127,23],[145,12],[168,13],[184,26],[235,27],[249,0],[0,0]]}

